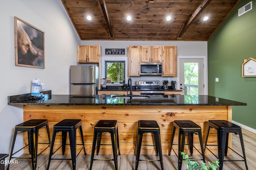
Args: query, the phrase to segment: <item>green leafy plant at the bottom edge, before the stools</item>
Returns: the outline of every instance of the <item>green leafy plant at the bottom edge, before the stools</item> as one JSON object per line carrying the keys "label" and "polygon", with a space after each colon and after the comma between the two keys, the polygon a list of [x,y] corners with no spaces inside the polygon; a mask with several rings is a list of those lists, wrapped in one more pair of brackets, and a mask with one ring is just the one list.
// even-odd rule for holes
{"label": "green leafy plant at the bottom edge, before the stools", "polygon": [[188,169],[186,169],[186,170],[216,170],[217,167],[220,167],[219,160],[216,160],[215,162],[208,162],[210,167],[207,167],[206,163],[204,163],[204,162],[201,162],[201,164],[199,165],[197,161],[190,160],[189,158],[191,158],[191,157],[189,157],[184,152],[180,152],[180,154],[182,154],[182,157],[183,157],[183,159],[185,159],[185,162],[187,164]]}

